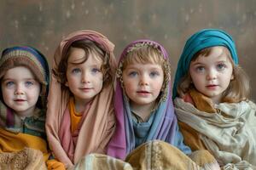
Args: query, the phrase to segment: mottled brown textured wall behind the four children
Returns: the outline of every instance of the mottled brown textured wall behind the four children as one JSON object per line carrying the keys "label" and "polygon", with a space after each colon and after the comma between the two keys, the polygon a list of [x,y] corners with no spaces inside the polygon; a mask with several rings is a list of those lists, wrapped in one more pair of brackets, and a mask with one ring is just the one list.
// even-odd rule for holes
{"label": "mottled brown textured wall behind the four children", "polygon": [[251,77],[256,101],[254,0],[2,0],[0,48],[30,45],[51,60],[62,37],[91,29],[106,35],[118,57],[139,38],[160,42],[170,54],[172,76],[186,39],[202,28],[220,28],[236,40],[240,65]]}

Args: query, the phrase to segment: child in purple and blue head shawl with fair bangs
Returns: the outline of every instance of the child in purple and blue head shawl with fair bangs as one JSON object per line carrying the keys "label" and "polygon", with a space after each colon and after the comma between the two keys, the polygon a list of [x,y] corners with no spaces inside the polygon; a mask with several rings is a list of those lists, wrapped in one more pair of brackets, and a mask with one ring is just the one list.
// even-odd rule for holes
{"label": "child in purple and blue head shawl with fair bangs", "polygon": [[108,144],[108,155],[124,159],[138,145],[154,139],[189,154],[172,105],[166,49],[150,40],[131,42],[120,56],[117,77],[117,127]]}

